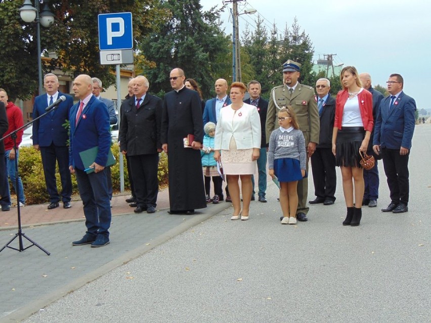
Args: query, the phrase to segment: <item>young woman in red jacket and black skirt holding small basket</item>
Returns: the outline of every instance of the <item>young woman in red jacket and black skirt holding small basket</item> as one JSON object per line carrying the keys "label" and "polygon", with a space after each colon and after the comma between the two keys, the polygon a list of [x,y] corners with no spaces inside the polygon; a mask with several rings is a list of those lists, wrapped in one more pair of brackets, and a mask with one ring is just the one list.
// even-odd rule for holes
{"label": "young woman in red jacket and black skirt holding small basket", "polygon": [[341,167],[342,190],[347,206],[347,216],[342,224],[357,226],[361,222],[365,187],[359,151],[367,151],[373,129],[373,101],[371,93],[362,87],[355,67],[344,67],[340,81],[343,89],[336,98],[332,153],[336,165]]}

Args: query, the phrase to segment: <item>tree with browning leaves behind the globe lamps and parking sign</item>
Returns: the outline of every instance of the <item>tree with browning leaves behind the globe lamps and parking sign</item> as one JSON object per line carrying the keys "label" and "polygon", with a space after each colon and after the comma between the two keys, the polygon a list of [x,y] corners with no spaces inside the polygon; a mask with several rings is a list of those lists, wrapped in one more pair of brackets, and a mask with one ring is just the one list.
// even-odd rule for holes
{"label": "tree with browning leaves behind the globe lamps and parking sign", "polygon": [[[97,16],[101,13],[132,12],[137,44],[169,17],[161,0],[53,0],[49,2],[55,22],[41,27],[42,52],[55,50],[58,58],[43,72],[62,68],[71,77],[81,73],[99,77],[105,87],[114,83],[113,66],[100,65]],[[12,98],[28,99],[38,86],[36,23],[26,24],[19,15],[22,0],[0,1],[0,84]],[[13,39],[13,41],[11,41]],[[3,85],[4,84],[4,85]]]}

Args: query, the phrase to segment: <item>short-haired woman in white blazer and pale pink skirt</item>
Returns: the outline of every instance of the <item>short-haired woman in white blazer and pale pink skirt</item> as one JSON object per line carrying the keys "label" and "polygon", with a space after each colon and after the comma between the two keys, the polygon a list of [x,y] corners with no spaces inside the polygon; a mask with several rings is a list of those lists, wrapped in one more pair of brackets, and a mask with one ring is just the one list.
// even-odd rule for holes
{"label": "short-haired woman in white blazer and pale pink skirt", "polygon": [[[232,104],[222,108],[215,127],[214,159],[221,162],[226,174],[234,207],[231,220],[248,220],[252,193],[251,175],[256,172],[256,160],[261,149],[261,119],[256,107],[244,103],[244,83],[231,85]],[[239,196],[239,183],[243,205]]]}

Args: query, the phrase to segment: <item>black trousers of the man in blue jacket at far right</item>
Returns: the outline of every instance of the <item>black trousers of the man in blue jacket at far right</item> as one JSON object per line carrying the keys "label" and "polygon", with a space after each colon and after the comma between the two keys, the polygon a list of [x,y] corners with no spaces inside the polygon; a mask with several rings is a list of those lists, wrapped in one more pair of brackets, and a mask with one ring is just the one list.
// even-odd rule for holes
{"label": "black trousers of the man in blue jacket at far right", "polygon": [[409,155],[401,156],[399,149],[382,148],[383,168],[394,204],[409,203]]}

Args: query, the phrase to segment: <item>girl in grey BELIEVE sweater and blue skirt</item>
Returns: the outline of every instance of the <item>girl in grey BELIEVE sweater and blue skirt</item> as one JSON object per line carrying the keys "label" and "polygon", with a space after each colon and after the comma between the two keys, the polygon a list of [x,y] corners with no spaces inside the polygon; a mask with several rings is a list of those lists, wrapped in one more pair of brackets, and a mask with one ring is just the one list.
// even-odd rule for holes
{"label": "girl in grey BELIEVE sweater and blue skirt", "polygon": [[277,176],[280,182],[281,224],[296,224],[296,187],[306,174],[305,139],[291,106],[280,109],[278,124],[280,127],[271,133],[269,141],[269,174],[273,178]]}

